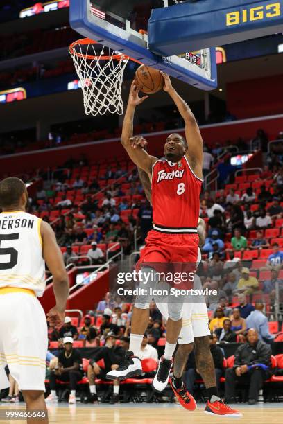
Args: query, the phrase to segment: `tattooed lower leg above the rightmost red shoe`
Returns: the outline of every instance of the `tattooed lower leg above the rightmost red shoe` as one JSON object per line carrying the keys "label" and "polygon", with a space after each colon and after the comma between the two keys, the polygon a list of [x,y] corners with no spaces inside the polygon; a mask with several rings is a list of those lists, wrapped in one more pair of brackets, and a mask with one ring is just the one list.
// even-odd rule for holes
{"label": "tattooed lower leg above the rightmost red shoe", "polygon": [[216,386],[215,369],[209,349],[209,336],[196,337],[196,368],[205,382],[206,389]]}

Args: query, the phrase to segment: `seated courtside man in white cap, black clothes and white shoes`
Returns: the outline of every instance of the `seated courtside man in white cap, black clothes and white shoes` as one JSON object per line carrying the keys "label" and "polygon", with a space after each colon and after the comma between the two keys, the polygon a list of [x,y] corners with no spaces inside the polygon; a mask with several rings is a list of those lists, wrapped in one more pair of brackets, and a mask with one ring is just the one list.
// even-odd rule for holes
{"label": "seated courtside man in white cap, black clothes and white shoes", "polygon": [[78,349],[73,348],[72,337],[63,339],[64,350],[58,356],[58,366],[50,373],[50,390],[51,394],[46,398],[47,403],[58,402],[56,394],[56,380],[69,382],[71,394],[69,403],[76,403],[76,386],[77,382],[83,377],[82,357]]}

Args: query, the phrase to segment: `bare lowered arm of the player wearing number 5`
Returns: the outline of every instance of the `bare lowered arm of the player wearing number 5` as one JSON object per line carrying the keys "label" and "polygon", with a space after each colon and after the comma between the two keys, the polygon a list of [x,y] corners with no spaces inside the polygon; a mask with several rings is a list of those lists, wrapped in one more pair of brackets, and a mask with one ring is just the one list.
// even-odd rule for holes
{"label": "bare lowered arm of the player wearing number 5", "polygon": [[41,223],[43,257],[53,275],[56,305],[47,314],[51,326],[64,323],[66,302],[69,296],[69,279],[55,233],[47,222]]}

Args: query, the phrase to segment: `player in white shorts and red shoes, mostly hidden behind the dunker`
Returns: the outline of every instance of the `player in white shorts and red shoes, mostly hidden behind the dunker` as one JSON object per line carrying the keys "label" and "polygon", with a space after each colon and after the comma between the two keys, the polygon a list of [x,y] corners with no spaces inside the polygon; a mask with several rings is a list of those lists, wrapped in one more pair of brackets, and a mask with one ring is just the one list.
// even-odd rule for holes
{"label": "player in white shorts and red shoes, mostly hidden behind the dunker", "polygon": [[[141,136],[134,137],[133,144],[146,147],[146,141]],[[138,168],[139,178],[144,187],[144,192],[149,202],[151,202],[151,183],[148,175]],[[205,221],[201,218],[198,220],[198,237],[200,247],[204,245],[206,236]],[[201,260],[200,248],[198,248],[198,264]],[[194,290],[201,290],[202,285],[198,275],[195,275]],[[168,318],[168,305],[166,303],[157,304],[162,315]],[[189,411],[196,409],[196,400],[189,394],[184,382],[182,381],[182,373],[184,372],[187,359],[191,351],[195,347],[196,368],[203,378],[205,389],[209,396],[205,407],[206,414],[221,415],[228,417],[241,416],[239,411],[230,408],[221,400],[216,386],[216,378],[214,371],[214,361],[209,348],[209,319],[207,315],[207,306],[204,297],[198,297],[196,303],[183,304],[182,309],[182,328],[178,337],[178,350],[174,358],[173,378],[170,381],[175,396],[178,398],[182,407]],[[167,385],[164,380],[164,389]]]}

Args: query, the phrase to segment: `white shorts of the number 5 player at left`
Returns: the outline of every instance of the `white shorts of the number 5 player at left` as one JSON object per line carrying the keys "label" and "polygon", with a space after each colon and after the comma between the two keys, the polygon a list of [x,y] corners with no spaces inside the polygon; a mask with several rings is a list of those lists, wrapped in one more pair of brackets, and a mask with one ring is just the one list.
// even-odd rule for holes
{"label": "white shorts of the number 5 player at left", "polygon": [[10,386],[4,368],[20,390],[45,391],[47,324],[44,310],[28,293],[0,294],[0,389]]}

